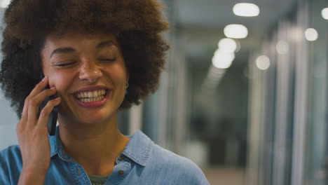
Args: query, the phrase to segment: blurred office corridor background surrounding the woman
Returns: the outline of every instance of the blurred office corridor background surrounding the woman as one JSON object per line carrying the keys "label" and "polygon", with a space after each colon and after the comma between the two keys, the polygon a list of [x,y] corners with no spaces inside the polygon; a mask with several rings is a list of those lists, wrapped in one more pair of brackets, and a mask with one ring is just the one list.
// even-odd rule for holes
{"label": "blurred office corridor background surrounding the woman", "polygon": [[[190,158],[210,184],[328,184],[328,1],[161,2],[160,89],[120,113],[121,131]],[[16,123],[0,93],[0,150]]]}

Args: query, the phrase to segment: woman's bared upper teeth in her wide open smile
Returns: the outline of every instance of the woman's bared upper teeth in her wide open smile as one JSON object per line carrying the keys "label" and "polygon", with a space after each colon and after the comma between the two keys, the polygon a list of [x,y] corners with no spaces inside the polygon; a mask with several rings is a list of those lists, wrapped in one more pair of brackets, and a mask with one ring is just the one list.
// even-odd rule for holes
{"label": "woman's bared upper teeth in her wide open smile", "polygon": [[107,95],[107,90],[92,90],[92,91],[84,91],[81,93],[76,93],[75,97],[78,101],[89,103],[89,102],[99,102],[104,100]]}

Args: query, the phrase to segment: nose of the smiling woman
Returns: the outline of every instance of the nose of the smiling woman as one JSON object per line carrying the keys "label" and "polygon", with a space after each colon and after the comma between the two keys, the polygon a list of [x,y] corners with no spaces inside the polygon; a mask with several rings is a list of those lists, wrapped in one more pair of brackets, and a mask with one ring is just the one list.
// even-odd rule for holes
{"label": "nose of the smiling woman", "polygon": [[102,77],[102,70],[95,60],[86,60],[83,62],[78,78],[94,83],[100,77]]}

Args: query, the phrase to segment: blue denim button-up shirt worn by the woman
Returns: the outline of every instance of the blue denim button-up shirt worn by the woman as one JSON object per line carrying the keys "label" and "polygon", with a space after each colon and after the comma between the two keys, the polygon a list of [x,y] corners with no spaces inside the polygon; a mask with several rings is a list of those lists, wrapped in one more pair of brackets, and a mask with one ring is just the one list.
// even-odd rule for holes
{"label": "blue denim button-up shirt worn by the woman", "polygon": [[[195,163],[154,144],[142,131],[130,138],[105,184],[209,184]],[[49,142],[51,160],[45,184],[91,185],[83,167],[64,152],[58,128]],[[21,170],[18,145],[0,152],[0,185],[18,184]]]}

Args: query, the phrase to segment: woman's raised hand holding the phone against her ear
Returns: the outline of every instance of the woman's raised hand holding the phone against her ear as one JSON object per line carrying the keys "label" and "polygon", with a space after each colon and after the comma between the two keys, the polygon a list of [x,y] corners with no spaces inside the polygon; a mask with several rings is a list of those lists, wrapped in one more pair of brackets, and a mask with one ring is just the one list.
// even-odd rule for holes
{"label": "woman's raised hand holding the phone against her ear", "polygon": [[[48,84],[48,77],[35,86],[25,99],[22,118],[16,126],[20,152],[22,153],[22,173],[20,183],[26,179],[44,183],[50,166],[50,144],[48,141],[48,118],[53,107],[60,104],[60,97],[50,100],[38,118],[39,106],[46,97],[55,95],[55,87],[43,90]],[[34,176],[34,177],[32,177]],[[26,181],[25,181],[26,182]],[[19,183],[19,184],[20,184]],[[23,183],[25,184],[25,183]],[[39,184],[39,183],[37,183]]]}

